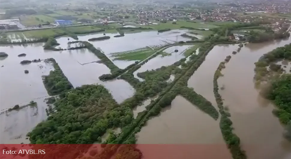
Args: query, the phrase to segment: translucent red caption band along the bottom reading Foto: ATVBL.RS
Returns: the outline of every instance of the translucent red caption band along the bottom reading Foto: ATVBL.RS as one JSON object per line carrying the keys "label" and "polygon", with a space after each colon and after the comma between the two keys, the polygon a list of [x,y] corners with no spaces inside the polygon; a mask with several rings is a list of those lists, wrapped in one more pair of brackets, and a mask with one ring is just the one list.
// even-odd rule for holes
{"label": "translucent red caption band along the bottom reading Foto: ATVBL.RS", "polygon": [[231,159],[225,144],[0,144],[1,159]]}

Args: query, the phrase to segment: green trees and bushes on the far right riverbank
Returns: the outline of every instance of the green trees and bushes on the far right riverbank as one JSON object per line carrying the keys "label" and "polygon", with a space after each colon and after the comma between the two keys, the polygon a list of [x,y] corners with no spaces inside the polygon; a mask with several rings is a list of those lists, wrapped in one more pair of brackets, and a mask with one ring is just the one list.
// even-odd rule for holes
{"label": "green trees and bushes on the far right riverbank", "polygon": [[[291,43],[283,47],[277,47],[264,54],[255,63],[256,74],[254,79],[256,80],[256,85],[259,85],[262,81],[267,82],[267,84],[263,85],[260,94],[274,101],[277,108],[273,110],[273,113],[279,118],[282,124],[286,125],[286,131],[290,132],[291,75],[289,73],[283,73],[281,65],[275,64],[275,62],[283,59],[291,59]],[[269,67],[269,70],[267,67]],[[285,133],[284,137],[290,140],[290,135]]]}

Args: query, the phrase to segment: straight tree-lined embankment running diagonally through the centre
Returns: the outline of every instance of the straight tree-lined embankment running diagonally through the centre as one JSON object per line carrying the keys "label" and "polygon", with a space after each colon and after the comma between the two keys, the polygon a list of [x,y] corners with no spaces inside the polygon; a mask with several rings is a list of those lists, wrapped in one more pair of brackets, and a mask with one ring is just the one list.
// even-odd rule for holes
{"label": "straight tree-lined embankment running diagonally through the centre", "polygon": [[[224,42],[224,43],[233,43],[233,42]],[[187,81],[190,76],[194,73],[196,69],[202,64],[205,60],[208,52],[213,48],[214,44],[206,42],[200,47],[199,54],[196,56],[196,59],[190,61],[186,69],[182,69],[182,72],[177,76],[174,81],[168,85],[161,93],[160,96],[151,104],[146,107],[146,110],[139,113],[137,119],[129,125],[126,129],[122,130],[122,134],[113,142],[114,143],[131,143],[134,142],[134,133],[140,131],[140,128],[145,125],[146,121],[149,120],[150,116],[158,115],[162,107],[167,107],[171,104],[176,95],[179,94],[181,87],[187,85]],[[132,73],[137,70],[140,65],[132,68],[122,75],[122,78],[127,80],[130,84],[135,85],[135,87],[140,86],[139,80],[135,79]],[[131,72],[131,73],[130,73]],[[143,82],[142,82],[143,83]],[[201,105],[201,103],[195,103],[196,105]]]}

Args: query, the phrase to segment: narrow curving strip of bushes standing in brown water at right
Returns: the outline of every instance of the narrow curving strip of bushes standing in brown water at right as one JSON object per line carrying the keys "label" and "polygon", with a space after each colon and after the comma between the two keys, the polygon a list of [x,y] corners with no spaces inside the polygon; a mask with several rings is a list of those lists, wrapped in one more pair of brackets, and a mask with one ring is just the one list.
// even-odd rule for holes
{"label": "narrow curving strip of bushes standing in brown water at right", "polygon": [[[229,61],[230,59],[229,56],[226,57],[226,59],[228,59]],[[214,92],[217,106],[219,108],[219,112],[221,114],[220,123],[219,123],[220,130],[223,135],[223,139],[227,144],[228,149],[230,149],[232,158],[233,159],[246,159],[247,156],[245,155],[244,150],[241,149],[239,137],[232,132],[233,130],[232,121],[229,119],[230,113],[226,112],[226,110],[224,109],[223,99],[221,98],[221,95],[218,93],[219,88],[218,88],[217,79],[220,76],[222,76],[220,71],[223,68],[225,68],[224,64],[225,64],[224,61],[219,64],[213,77],[213,92]]]}

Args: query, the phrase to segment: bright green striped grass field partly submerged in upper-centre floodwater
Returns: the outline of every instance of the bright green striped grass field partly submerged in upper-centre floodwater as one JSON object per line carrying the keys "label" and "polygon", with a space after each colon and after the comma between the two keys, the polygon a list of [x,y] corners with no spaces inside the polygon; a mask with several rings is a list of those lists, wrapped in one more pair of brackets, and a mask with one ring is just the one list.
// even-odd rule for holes
{"label": "bright green striped grass field partly submerged in upper-centre floodwater", "polygon": [[114,60],[125,60],[125,61],[133,61],[133,60],[143,60],[150,55],[155,53],[155,50],[145,47],[142,49],[125,51],[125,52],[117,52],[110,54]]}

